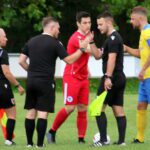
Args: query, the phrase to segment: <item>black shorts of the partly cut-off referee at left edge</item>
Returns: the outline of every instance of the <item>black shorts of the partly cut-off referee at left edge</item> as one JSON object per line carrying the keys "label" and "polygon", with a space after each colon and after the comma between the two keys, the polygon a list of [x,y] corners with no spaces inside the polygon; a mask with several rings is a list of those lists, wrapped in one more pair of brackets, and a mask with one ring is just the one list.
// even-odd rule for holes
{"label": "black shorts of the partly cut-off referee at left edge", "polygon": [[7,80],[0,80],[0,108],[11,108],[15,106],[14,95],[11,85]]}

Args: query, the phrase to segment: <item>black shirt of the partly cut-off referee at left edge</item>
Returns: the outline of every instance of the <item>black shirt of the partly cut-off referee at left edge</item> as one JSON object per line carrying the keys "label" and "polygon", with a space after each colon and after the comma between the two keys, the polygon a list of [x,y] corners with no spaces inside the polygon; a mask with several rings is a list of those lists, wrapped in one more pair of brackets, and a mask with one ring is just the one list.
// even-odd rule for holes
{"label": "black shirt of the partly cut-off referee at left edge", "polygon": [[2,48],[0,48],[0,80],[3,80],[3,79],[7,80],[5,75],[3,74],[1,65],[9,65],[8,54],[6,50]]}

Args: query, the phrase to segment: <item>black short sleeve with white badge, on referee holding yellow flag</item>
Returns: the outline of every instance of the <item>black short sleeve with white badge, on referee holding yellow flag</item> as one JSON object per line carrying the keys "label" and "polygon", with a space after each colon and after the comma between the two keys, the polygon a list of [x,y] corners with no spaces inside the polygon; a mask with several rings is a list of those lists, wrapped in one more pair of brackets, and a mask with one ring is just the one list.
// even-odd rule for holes
{"label": "black short sleeve with white badge, on referee holding yellow flag", "polygon": [[109,53],[118,53],[120,48],[120,43],[118,38],[115,35],[110,36],[108,42],[108,52]]}

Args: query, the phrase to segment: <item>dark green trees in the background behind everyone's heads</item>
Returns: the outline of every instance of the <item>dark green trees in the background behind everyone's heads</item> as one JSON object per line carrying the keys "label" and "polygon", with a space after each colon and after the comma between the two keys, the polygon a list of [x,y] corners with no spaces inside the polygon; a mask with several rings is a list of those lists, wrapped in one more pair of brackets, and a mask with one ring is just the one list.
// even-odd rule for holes
{"label": "dark green trees in the background behind everyone's heads", "polygon": [[108,10],[113,14],[124,42],[136,47],[139,31],[132,29],[129,15],[137,5],[150,10],[149,0],[0,0],[0,27],[7,33],[8,52],[19,53],[29,38],[42,32],[42,18],[53,16],[60,22],[59,38],[66,46],[69,36],[76,30],[76,13],[87,11],[92,17],[96,44],[101,46],[105,37],[98,33],[96,17]]}

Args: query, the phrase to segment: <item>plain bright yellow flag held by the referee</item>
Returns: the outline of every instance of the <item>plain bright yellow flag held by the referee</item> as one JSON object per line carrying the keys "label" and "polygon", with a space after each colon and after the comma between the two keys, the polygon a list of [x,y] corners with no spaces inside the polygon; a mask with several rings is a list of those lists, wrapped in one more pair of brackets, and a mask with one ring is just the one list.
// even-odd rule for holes
{"label": "plain bright yellow flag held by the referee", "polygon": [[104,91],[99,96],[97,96],[97,98],[94,99],[92,103],[89,105],[89,115],[91,117],[100,116],[106,95],[107,91]]}

